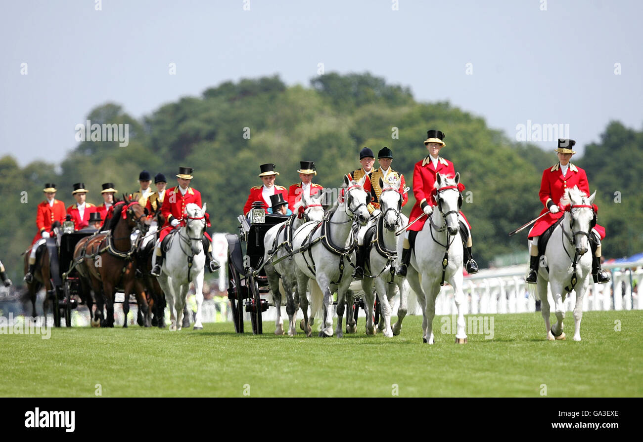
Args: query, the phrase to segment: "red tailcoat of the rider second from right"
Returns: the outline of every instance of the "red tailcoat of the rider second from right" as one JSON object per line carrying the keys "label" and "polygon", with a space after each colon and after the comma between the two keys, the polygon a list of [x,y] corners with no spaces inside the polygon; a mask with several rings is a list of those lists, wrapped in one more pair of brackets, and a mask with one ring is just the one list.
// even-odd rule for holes
{"label": "red tailcoat of the rider second from right", "polygon": [[[422,215],[422,202],[426,201],[429,206],[435,206],[435,200],[433,199],[433,193],[435,186],[435,173],[440,173],[442,175],[448,175],[448,177],[455,177],[455,168],[453,168],[453,163],[448,159],[438,157],[437,168],[433,167],[433,161],[431,157],[427,156],[422,161],[415,163],[415,168],[413,169],[413,195],[415,195],[415,204],[413,204],[413,209],[411,209],[411,216],[408,218],[408,222],[413,222],[417,217]],[[458,185],[460,191],[464,190],[463,185]],[[467,218],[464,217],[464,213],[460,212],[462,218],[467,222]],[[410,231],[419,232],[424,227],[424,223],[428,217],[424,217],[411,227],[408,228]],[[469,225],[471,229],[471,225]]]}

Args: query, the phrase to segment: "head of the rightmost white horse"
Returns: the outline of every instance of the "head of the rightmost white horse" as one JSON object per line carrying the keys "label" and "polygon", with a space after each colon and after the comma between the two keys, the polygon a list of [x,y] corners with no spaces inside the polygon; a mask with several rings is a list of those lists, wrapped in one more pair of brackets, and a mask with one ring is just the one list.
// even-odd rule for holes
{"label": "head of the rightmost white horse", "polygon": [[579,256],[588,249],[588,240],[592,227],[596,224],[596,213],[593,206],[596,191],[588,197],[577,186],[565,191],[560,201],[565,211],[569,212],[569,229],[572,232],[572,242]]}

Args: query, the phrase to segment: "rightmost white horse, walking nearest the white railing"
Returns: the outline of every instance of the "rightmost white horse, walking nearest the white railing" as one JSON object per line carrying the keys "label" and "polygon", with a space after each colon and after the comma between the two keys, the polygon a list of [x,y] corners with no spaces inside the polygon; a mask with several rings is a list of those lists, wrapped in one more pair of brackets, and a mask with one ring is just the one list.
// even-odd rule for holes
{"label": "rightmost white horse, walking nearest the white railing", "polygon": [[[561,224],[557,225],[547,242],[545,256],[538,266],[536,298],[541,300],[541,312],[545,319],[547,339],[565,339],[563,319],[565,319],[565,297],[576,291],[574,306],[574,340],[581,340],[581,318],[583,317],[583,296],[589,285],[592,273],[592,252],[588,236],[592,234],[594,217],[592,203],[596,192],[588,197],[577,186],[565,191],[561,206],[566,206]],[[575,267],[574,267],[575,264]],[[547,269],[548,267],[548,269]],[[575,279],[575,281],[574,281]],[[550,326],[547,281],[552,289],[554,311],[557,322]]]}

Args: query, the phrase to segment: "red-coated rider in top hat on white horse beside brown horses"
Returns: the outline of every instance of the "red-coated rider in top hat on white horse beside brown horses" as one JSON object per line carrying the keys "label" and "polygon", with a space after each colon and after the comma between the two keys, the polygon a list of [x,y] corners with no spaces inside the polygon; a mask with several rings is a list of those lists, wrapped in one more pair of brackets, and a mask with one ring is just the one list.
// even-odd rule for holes
{"label": "red-coated rider in top hat on white horse beside brown horses", "polygon": [[[161,213],[163,213],[163,218],[165,218],[165,224],[156,242],[156,264],[154,265],[154,269],[152,269],[152,275],[154,276],[161,275],[161,265],[163,265],[163,258],[165,258],[161,252],[161,242],[163,238],[165,238],[172,229],[183,227],[186,224],[187,214],[185,208],[188,204],[194,203],[199,206],[199,208],[203,207],[203,204],[201,204],[201,192],[190,187],[190,181],[194,178],[192,176],[193,170],[194,169],[190,167],[179,167],[179,173],[176,175],[179,185],[165,192],[165,198],[161,206]],[[205,217],[206,227],[210,227],[210,217],[207,213]],[[217,266],[215,261],[212,261],[212,238],[210,238],[210,235],[205,231],[203,238],[206,267],[208,267],[210,272],[213,272],[217,270],[219,266]]]}

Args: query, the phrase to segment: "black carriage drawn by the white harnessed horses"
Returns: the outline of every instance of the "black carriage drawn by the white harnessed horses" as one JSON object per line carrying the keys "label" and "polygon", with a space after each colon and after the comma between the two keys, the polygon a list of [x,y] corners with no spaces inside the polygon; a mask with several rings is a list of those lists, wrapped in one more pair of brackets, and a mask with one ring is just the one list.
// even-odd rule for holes
{"label": "black carriage drawn by the white harnessed horses", "polygon": [[[244,332],[244,312],[250,314],[252,332],[263,333],[262,313],[268,301],[260,294],[270,291],[263,268],[264,236],[273,225],[287,220],[284,215],[267,214],[260,204],[253,204],[250,218],[239,215],[240,234],[227,234],[228,299],[237,333]],[[255,270],[257,269],[257,270]]]}

